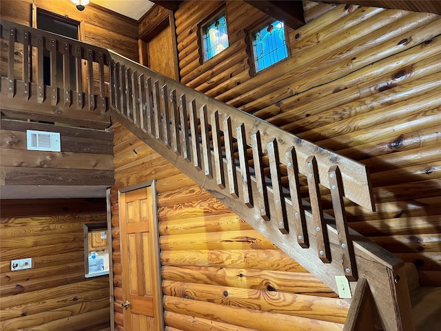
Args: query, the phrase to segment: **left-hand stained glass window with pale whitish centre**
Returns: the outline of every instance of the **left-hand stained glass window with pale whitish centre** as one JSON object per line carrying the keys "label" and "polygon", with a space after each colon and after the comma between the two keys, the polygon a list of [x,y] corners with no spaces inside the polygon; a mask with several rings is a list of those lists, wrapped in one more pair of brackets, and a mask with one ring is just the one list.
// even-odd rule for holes
{"label": "left-hand stained glass window with pale whitish centre", "polygon": [[225,12],[203,26],[204,61],[211,59],[228,47],[227,19]]}

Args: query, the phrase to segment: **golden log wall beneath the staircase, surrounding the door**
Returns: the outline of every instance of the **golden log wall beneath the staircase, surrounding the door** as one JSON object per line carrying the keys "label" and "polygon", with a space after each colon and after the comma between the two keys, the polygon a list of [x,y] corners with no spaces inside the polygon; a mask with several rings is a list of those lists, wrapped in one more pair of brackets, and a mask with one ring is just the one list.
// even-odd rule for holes
{"label": "golden log wall beneath the staircase, surrounding the door", "polygon": [[116,330],[123,330],[117,192],[150,179],[157,180],[167,330],[342,329],[345,300],[119,123],[112,131]]}

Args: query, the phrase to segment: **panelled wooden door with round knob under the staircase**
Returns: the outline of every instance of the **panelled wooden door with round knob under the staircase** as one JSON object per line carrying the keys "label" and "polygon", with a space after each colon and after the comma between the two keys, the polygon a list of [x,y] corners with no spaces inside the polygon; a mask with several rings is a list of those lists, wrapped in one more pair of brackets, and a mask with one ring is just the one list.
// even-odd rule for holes
{"label": "panelled wooden door with round knob under the staircase", "polygon": [[152,186],[120,194],[125,331],[163,330]]}

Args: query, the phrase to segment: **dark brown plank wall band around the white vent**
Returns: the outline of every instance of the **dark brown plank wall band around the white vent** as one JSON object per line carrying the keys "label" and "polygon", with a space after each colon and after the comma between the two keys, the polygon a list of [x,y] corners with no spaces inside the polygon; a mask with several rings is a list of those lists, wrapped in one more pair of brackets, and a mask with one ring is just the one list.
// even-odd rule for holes
{"label": "dark brown plank wall band around the white vent", "polygon": [[[28,150],[26,130],[60,132],[61,152]],[[1,120],[1,185],[110,186],[112,159],[111,132]]]}

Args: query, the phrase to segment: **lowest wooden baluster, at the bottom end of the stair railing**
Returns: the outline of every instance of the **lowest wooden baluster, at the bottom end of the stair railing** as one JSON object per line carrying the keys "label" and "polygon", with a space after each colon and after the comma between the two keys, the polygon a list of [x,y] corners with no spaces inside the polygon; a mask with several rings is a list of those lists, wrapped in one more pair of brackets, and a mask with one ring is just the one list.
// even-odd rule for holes
{"label": "lowest wooden baluster, at the bottom end of the stair railing", "polygon": [[353,244],[347,229],[345,203],[343,203],[342,175],[338,165],[332,165],[329,168],[329,185],[331,185],[332,205],[334,206],[338,241],[340,241],[340,247],[342,248],[342,263],[345,276],[349,281],[357,281],[356,256],[353,252]]}

